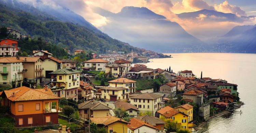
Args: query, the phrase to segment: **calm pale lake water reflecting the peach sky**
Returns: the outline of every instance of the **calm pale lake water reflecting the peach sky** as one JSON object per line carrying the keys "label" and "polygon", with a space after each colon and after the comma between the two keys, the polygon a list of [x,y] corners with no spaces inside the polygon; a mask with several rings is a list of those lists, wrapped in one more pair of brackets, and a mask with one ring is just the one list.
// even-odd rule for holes
{"label": "calm pale lake water reflecting the peach sky", "polygon": [[192,70],[197,77],[221,78],[238,85],[241,101],[245,105],[230,114],[211,119],[199,133],[256,133],[256,54],[233,53],[165,53],[173,58],[150,59],[142,63],[149,68],[173,72]]}

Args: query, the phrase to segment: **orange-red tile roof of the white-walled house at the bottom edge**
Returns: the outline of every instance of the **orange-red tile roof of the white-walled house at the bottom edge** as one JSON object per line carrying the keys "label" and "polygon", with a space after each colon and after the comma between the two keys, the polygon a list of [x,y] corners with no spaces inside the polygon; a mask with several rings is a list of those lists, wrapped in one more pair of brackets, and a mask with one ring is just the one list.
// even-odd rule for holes
{"label": "orange-red tile roof of the white-walled house at the bottom edge", "polygon": [[145,123],[144,121],[139,120],[139,119],[135,119],[135,118],[130,119],[129,124],[127,125],[127,127],[128,127],[129,129],[131,129],[131,130],[135,130],[135,129],[137,129],[137,128],[142,127],[143,125],[158,130],[158,129],[157,129],[156,127],[154,127],[153,125],[147,124],[147,123]]}

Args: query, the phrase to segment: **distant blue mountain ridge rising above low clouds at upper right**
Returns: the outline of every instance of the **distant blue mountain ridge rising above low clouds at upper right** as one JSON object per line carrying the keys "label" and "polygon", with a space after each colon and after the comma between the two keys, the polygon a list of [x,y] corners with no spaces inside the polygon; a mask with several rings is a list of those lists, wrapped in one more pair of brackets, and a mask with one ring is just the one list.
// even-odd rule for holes
{"label": "distant blue mountain ridge rising above low clouds at upper right", "polygon": [[196,12],[188,12],[188,13],[181,13],[176,14],[181,19],[198,19],[199,15],[203,14],[205,15],[204,20],[208,21],[233,21],[233,22],[243,22],[245,20],[248,20],[250,18],[253,18],[255,16],[241,16],[238,17],[236,14],[232,13],[223,13],[223,12],[217,12],[213,10],[199,10]]}

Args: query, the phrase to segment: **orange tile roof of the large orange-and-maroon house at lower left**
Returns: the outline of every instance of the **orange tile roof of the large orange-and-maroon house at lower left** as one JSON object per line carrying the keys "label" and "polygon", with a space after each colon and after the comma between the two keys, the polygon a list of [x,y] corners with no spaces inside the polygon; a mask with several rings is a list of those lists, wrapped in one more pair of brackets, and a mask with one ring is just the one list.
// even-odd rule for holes
{"label": "orange tile roof of the large orange-and-maroon house at lower left", "polygon": [[7,99],[11,101],[60,99],[60,97],[55,96],[49,88],[31,89],[22,86],[11,90],[4,90],[3,93],[5,93]]}

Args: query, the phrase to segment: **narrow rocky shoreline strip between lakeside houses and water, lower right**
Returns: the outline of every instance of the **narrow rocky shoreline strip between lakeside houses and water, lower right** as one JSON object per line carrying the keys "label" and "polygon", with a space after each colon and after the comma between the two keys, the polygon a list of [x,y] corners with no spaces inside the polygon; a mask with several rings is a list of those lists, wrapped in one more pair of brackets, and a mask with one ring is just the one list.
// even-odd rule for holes
{"label": "narrow rocky shoreline strip between lakeside houses and water, lower right", "polygon": [[[238,106],[235,106],[235,107],[234,107],[234,110],[240,108],[242,105],[244,105],[243,102],[242,102],[242,103],[239,103]],[[197,126],[197,128],[196,128],[196,131],[199,131],[199,130],[204,129],[205,126],[207,125],[208,121],[211,120],[212,118],[214,118],[214,117],[220,117],[220,116],[222,116],[222,115],[226,115],[226,114],[229,114],[229,113],[232,113],[232,112],[229,112],[229,111],[227,111],[227,110],[224,110],[224,111],[222,111],[222,112],[220,112],[220,113],[218,113],[218,114],[215,114],[215,115],[213,115],[213,116],[210,116],[207,120],[205,120],[205,121],[203,121],[203,122],[200,122],[200,123],[198,124],[198,126]]]}

